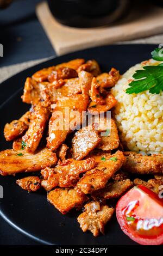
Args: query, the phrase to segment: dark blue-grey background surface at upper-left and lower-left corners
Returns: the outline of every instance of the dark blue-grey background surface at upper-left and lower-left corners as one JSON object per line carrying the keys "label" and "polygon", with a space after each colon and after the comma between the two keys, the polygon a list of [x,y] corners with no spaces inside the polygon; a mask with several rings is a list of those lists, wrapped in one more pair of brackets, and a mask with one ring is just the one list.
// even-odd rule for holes
{"label": "dark blue-grey background surface at upper-left and lower-left corners", "polygon": [[[4,47],[0,68],[56,55],[35,15],[35,5],[39,2],[17,0],[9,8],[0,10],[0,43]],[[0,245],[39,243],[20,234],[0,217]]]}

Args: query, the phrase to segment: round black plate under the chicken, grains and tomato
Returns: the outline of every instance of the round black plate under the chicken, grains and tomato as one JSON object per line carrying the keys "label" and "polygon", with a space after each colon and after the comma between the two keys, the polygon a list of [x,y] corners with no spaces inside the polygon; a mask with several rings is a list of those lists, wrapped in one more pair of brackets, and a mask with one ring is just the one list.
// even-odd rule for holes
{"label": "round black plate under the chicken, grains and tomato", "polygon": [[[48,60],[9,78],[1,84],[0,149],[11,148],[11,144],[5,142],[3,137],[5,123],[19,118],[29,108],[29,105],[22,103],[20,98],[27,76],[32,76],[35,71],[46,66],[73,58],[95,58],[103,71],[108,71],[114,66],[122,74],[130,66],[150,58],[151,51],[155,47],[155,45],[110,45],[90,48]],[[0,214],[5,221],[23,234],[48,245],[136,245],[123,234],[116,217],[106,225],[105,236],[95,238],[89,232],[83,233],[76,220],[78,216],[76,211],[61,215],[47,202],[46,192],[28,193],[17,186],[15,180],[22,175],[0,177],[4,197],[0,199]]]}

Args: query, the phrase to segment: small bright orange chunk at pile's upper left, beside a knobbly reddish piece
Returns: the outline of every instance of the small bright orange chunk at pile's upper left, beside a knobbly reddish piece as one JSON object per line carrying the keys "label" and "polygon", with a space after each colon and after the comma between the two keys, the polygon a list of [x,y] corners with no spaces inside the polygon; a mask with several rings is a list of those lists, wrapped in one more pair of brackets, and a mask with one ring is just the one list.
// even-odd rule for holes
{"label": "small bright orange chunk at pile's upper left, beside a knobbly reddish piece", "polygon": [[49,66],[49,68],[41,69],[32,76],[36,82],[48,81],[48,76],[55,70],[55,66]]}

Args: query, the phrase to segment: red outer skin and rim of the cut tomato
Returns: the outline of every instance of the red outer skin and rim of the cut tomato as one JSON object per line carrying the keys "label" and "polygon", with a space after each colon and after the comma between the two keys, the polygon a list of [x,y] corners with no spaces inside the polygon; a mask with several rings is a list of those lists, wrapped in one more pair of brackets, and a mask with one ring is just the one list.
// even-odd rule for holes
{"label": "red outer skin and rim of the cut tomato", "polygon": [[[126,208],[127,204],[130,202],[129,198],[132,198],[134,200],[134,196],[139,195],[139,190],[142,190],[144,193],[147,193],[148,196],[152,196],[153,199],[158,199],[158,196],[153,193],[152,191],[148,190],[148,188],[144,186],[138,186],[131,188],[126,194],[124,194],[123,197],[118,201],[116,205],[116,216],[117,221],[120,224],[120,227],[124,234],[128,235],[130,239],[134,240],[135,242],[139,243],[140,245],[162,245],[163,244],[163,233],[159,236],[154,237],[154,239],[146,237],[139,236],[139,234],[136,234],[134,231],[132,231],[129,226],[127,225],[127,221],[122,214],[122,210]],[[159,199],[160,200],[160,199]]]}

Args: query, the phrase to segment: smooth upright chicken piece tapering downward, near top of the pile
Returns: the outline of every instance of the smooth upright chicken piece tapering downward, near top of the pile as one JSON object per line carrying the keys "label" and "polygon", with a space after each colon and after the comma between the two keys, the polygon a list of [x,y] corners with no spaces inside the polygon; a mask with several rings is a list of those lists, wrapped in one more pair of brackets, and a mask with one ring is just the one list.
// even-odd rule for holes
{"label": "smooth upright chicken piece tapering downward, near top of the pile", "polygon": [[79,84],[83,94],[89,94],[93,76],[86,71],[79,72]]}

